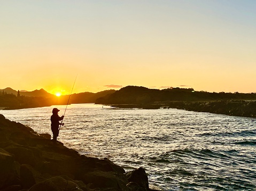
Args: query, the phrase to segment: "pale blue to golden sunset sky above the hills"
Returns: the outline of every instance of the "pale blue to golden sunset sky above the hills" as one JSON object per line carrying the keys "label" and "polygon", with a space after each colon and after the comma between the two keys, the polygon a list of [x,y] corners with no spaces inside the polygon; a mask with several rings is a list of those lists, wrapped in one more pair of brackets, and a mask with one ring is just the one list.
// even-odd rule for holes
{"label": "pale blue to golden sunset sky above the hills", "polygon": [[0,89],[256,92],[254,0],[0,0]]}

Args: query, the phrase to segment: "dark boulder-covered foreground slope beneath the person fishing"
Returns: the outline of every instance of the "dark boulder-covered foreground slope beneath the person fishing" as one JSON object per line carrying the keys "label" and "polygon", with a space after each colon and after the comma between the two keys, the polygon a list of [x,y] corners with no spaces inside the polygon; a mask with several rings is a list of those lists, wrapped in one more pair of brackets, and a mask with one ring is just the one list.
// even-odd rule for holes
{"label": "dark boulder-covered foreground slope beneath the person fishing", "polygon": [[0,131],[0,190],[153,191],[143,168],[125,172],[108,159],[80,155],[2,114]]}

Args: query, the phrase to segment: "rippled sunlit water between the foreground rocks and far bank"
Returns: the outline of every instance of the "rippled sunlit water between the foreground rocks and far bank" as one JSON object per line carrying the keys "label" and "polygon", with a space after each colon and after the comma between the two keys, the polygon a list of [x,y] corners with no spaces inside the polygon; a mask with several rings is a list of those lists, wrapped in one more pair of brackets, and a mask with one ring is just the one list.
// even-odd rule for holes
{"label": "rippled sunlit water between the foreground rocks and far bank", "polygon": [[[49,133],[51,107],[3,111]],[[64,113],[66,106],[56,106]],[[256,119],[176,109],[68,105],[58,140],[108,157],[126,171],[143,167],[162,190],[256,190]]]}

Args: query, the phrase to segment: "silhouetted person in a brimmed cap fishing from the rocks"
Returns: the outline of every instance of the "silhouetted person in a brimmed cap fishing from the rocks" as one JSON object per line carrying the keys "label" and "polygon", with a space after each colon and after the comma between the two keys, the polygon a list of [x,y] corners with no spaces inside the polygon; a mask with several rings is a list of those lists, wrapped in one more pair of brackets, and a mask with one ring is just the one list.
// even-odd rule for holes
{"label": "silhouetted person in a brimmed cap fishing from the rocks", "polygon": [[63,120],[64,115],[59,117],[57,108],[52,109],[52,115],[51,115],[51,131],[53,134],[53,142],[57,142],[57,137],[59,136],[59,125],[64,125],[64,123],[60,123],[59,121]]}

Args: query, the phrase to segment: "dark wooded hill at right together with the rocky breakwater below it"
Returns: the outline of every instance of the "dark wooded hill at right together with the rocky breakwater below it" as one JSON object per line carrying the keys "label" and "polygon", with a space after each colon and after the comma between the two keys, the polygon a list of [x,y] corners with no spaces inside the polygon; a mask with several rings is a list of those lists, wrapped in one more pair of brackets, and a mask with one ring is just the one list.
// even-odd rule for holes
{"label": "dark wooded hill at right together with the rocky breakwater below it", "polygon": [[210,112],[256,118],[256,94],[197,92],[193,88],[149,89],[127,86],[96,100],[121,108],[176,108],[197,112]]}

